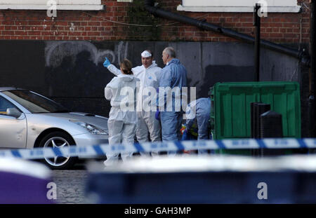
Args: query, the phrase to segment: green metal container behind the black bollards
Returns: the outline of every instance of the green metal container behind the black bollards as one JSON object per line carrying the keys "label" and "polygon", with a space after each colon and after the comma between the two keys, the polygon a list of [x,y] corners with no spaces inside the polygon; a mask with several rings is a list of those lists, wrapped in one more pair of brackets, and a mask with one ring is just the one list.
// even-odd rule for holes
{"label": "green metal container behind the black bollards", "polygon": [[[297,82],[216,83],[210,94],[213,139],[251,137],[251,102],[270,104],[272,111],[282,114],[284,137],[301,137],[301,100]],[[250,153],[246,151],[246,154]]]}

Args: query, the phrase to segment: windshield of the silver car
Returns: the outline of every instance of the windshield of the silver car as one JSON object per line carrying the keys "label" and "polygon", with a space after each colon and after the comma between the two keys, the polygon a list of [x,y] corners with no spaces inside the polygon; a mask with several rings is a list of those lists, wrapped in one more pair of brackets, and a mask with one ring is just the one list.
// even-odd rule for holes
{"label": "windshield of the silver car", "polygon": [[62,105],[48,99],[47,97],[38,95],[29,90],[8,90],[2,92],[18,102],[32,114],[39,113],[67,113],[70,112]]}

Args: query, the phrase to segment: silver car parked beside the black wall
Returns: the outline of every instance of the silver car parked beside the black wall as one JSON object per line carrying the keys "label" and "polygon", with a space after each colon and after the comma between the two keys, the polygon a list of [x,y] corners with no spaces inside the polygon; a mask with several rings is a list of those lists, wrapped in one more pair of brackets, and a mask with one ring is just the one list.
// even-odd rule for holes
{"label": "silver car parked beside the black wall", "polygon": [[[103,116],[70,112],[30,90],[0,88],[1,149],[106,144],[107,132],[107,118]],[[41,161],[62,170],[71,168],[78,158],[55,156]]]}

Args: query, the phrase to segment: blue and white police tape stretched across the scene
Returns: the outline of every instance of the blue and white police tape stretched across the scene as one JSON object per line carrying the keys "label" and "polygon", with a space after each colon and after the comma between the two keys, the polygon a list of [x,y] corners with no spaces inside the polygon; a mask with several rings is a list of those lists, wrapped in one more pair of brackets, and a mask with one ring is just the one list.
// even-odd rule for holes
{"label": "blue and white police tape stretched across the scene", "polygon": [[94,146],[0,150],[1,157],[23,159],[55,156],[105,156],[122,152],[180,151],[197,149],[316,149],[316,139],[224,139],[178,142],[144,142],[139,144],[100,144]]}

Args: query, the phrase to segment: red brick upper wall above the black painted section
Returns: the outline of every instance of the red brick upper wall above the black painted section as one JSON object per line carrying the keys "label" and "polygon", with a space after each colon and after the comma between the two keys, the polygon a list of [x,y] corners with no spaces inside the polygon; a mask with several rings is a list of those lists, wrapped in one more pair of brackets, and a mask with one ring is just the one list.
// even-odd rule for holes
{"label": "red brick upper wall above the black painted section", "polygon": [[[0,39],[32,40],[160,40],[160,41],[235,41],[220,34],[183,25],[173,20],[153,18],[146,12],[133,12],[142,5],[140,0],[124,3],[103,0],[105,11],[58,11],[53,20],[46,11],[0,11]],[[298,4],[308,0],[298,0]],[[252,13],[190,13],[176,11],[180,0],[160,0],[162,8],[190,16],[206,19],[238,32],[254,36]],[[138,5],[137,5],[138,4]],[[280,43],[306,43],[309,41],[310,12],[303,7],[301,13],[268,13],[262,19],[263,39]],[[136,10],[137,11],[137,10]],[[202,17],[202,18],[200,18]],[[137,27],[121,25],[124,22]],[[157,25],[157,27],[156,27]]]}

